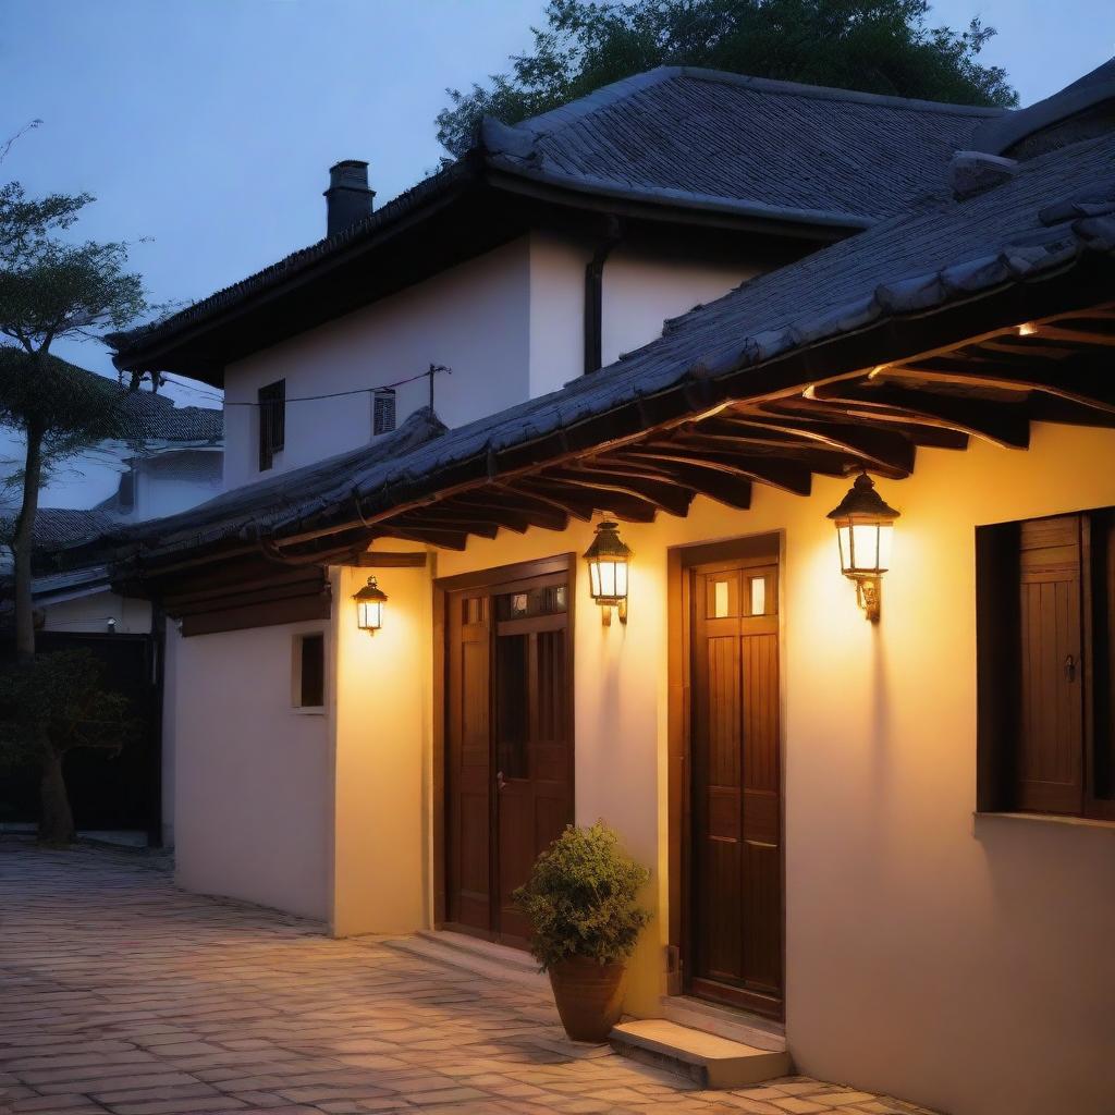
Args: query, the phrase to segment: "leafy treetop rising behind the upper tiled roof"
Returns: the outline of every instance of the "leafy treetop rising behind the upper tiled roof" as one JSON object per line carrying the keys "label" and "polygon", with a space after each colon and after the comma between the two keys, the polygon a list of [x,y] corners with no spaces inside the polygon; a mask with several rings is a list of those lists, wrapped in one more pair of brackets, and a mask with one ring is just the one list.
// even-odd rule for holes
{"label": "leafy treetop rising behind the upper tiled roof", "polygon": [[447,89],[437,138],[454,155],[483,116],[515,124],[656,66],[925,100],[1010,107],[1006,71],[977,57],[995,29],[930,28],[928,0],[551,0],[533,51],[467,93]]}

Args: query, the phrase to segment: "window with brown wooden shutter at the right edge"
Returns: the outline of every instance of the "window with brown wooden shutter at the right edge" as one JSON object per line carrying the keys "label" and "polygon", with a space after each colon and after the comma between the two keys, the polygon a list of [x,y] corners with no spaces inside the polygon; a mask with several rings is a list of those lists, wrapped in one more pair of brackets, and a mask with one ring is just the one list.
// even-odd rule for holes
{"label": "window with brown wooden shutter at the right edge", "polygon": [[1115,820],[1113,524],[977,531],[980,809]]}

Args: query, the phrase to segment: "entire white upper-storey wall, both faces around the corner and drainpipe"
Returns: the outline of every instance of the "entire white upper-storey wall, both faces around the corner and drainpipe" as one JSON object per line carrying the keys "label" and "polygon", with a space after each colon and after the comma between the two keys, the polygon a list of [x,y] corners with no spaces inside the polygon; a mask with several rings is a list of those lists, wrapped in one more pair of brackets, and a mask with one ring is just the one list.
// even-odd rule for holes
{"label": "entire white upper-storey wall, both faces around the corner and drainpipe", "polygon": [[[261,387],[285,380],[287,399],[380,387],[432,362],[435,409],[462,426],[556,390],[584,370],[588,242],[531,233],[426,282],[225,369],[224,486],[260,477]],[[662,322],[727,293],[754,263],[620,244],[604,268],[603,358],[659,337]],[[398,388],[403,423],[428,401],[425,379]],[[248,405],[245,405],[248,404]],[[370,394],[288,401],[284,448],[265,474],[371,440]]]}

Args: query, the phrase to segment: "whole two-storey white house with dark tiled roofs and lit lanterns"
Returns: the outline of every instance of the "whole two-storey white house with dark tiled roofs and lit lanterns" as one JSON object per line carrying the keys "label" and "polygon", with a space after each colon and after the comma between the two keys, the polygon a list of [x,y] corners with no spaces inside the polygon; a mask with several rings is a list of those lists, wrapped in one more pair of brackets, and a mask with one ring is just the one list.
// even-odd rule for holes
{"label": "whole two-storey white house with dark tiled roofs and lit lanterns", "polygon": [[[180,882],[521,947],[602,817],[652,867],[631,1014],[1109,1111],[1113,78],[656,71],[118,338],[256,404],[225,494],[101,543],[175,621]],[[448,426],[407,385],[375,435],[432,363]]]}

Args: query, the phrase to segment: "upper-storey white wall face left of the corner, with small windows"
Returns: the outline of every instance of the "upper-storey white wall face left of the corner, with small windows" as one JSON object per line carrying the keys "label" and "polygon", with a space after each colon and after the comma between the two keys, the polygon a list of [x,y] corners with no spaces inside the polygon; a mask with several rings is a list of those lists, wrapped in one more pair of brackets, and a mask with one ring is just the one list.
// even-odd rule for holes
{"label": "upper-storey white wall face left of the corner, with small windows", "polygon": [[[285,379],[287,398],[380,387],[447,365],[435,382],[443,421],[460,426],[526,398],[529,242],[522,237],[225,370],[224,485],[258,479],[258,390]],[[426,379],[398,388],[397,416],[428,401]],[[371,440],[370,394],[287,404],[273,471]],[[269,472],[265,475],[271,475]]]}

